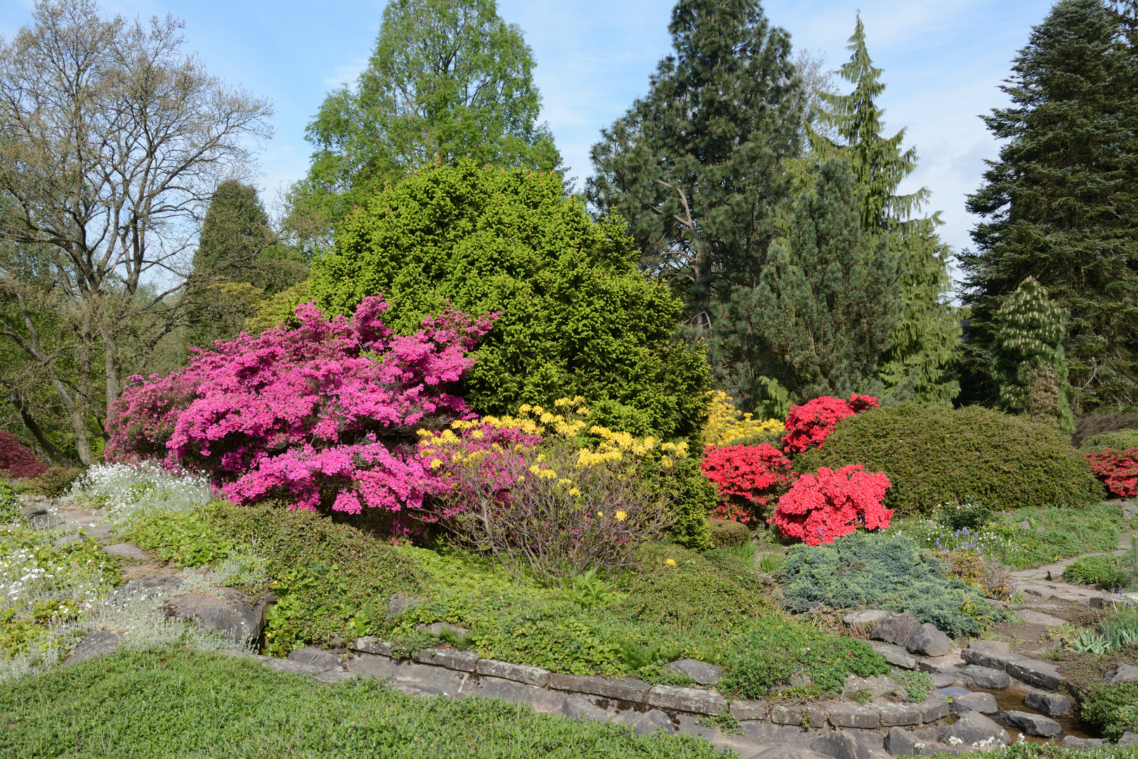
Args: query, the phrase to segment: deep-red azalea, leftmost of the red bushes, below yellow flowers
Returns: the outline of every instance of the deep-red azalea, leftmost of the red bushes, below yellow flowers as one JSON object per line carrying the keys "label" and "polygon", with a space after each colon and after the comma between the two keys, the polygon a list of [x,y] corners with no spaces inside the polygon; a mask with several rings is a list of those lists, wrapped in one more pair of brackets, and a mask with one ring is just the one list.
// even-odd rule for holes
{"label": "deep-red azalea, leftmost of the red bushes, below yellow flowers", "polygon": [[[766,505],[770,498],[777,497],[794,476],[790,459],[778,448],[765,443],[708,448],[700,468],[715,482],[719,497],[724,500],[724,509],[716,509],[711,513],[717,519],[750,521],[750,511],[756,505]],[[732,503],[734,508],[726,509],[727,503]],[[719,511],[723,511],[723,517],[718,515]],[[742,513],[745,518],[727,517],[728,513]]]}

